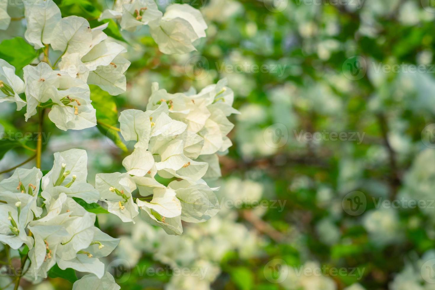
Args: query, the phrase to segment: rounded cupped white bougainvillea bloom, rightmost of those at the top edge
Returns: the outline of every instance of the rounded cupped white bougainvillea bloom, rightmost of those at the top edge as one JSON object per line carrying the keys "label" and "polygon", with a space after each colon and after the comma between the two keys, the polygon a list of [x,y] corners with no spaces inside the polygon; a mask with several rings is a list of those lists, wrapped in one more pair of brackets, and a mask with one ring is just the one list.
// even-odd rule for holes
{"label": "rounded cupped white bougainvillea bloom, rightmost of those at the top edge", "polygon": [[172,4],[160,21],[149,23],[151,36],[166,54],[188,53],[196,50],[193,42],[205,37],[205,23],[201,12],[187,4]]}

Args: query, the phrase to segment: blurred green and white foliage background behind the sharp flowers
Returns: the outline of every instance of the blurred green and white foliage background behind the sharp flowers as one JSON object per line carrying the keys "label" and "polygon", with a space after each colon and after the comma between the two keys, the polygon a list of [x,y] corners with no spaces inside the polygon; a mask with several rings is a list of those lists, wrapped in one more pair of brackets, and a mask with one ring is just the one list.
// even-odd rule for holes
{"label": "blurred green and white foliage background behind the sharp flowers", "polygon": [[[92,26],[113,3],[56,2],[63,16]],[[197,51],[164,55],[146,27],[110,29],[132,62],[128,89],[92,100],[116,120],[121,110],[145,110],[152,82],[175,93],[226,77],[241,114],[231,117],[234,145],[220,158],[216,217],[168,236],[141,220],[98,216],[102,229],[121,237],[106,261],[121,289],[435,289],[435,3],[175,2],[204,15],[207,37]],[[0,39],[23,32],[14,21]],[[13,58],[2,43],[0,58]],[[4,133],[37,127],[5,103],[0,123]],[[122,170],[126,153],[110,131],[46,126],[43,168],[54,152],[74,147],[88,152],[90,182]],[[8,151],[0,171],[30,154]],[[71,284],[50,278],[28,289]]]}

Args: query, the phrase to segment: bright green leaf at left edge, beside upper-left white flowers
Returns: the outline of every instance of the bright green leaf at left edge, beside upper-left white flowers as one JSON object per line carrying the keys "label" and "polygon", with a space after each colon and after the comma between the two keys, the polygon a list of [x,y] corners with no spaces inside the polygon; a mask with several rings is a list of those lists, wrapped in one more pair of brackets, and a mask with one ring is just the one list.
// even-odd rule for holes
{"label": "bright green leaf at left edge, beside upper-left white flowers", "polygon": [[35,50],[22,37],[3,40],[0,43],[0,58],[13,65],[17,72],[38,57]]}

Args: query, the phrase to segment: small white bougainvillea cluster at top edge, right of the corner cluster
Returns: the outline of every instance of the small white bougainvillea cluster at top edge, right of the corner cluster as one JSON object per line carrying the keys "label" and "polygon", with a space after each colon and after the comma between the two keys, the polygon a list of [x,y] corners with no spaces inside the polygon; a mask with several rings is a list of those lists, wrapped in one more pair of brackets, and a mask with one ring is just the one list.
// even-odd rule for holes
{"label": "small white bougainvillea cluster at top edge, right of the corner cluster", "polygon": [[166,54],[196,50],[193,43],[205,37],[207,24],[201,13],[187,4],[172,4],[163,14],[154,0],[117,0],[113,10],[105,10],[99,20],[114,18],[124,30],[148,25],[159,50]]}

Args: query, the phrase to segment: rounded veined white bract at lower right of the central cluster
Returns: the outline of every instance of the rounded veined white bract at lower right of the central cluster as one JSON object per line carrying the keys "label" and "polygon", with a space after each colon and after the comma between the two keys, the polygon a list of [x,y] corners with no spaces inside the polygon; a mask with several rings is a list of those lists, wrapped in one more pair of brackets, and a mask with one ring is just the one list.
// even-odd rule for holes
{"label": "rounded veined white bract at lower right of the central cluster", "polygon": [[174,180],[168,187],[175,190],[181,202],[181,220],[200,223],[211,219],[220,210],[219,200],[207,184]]}

